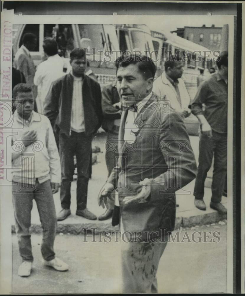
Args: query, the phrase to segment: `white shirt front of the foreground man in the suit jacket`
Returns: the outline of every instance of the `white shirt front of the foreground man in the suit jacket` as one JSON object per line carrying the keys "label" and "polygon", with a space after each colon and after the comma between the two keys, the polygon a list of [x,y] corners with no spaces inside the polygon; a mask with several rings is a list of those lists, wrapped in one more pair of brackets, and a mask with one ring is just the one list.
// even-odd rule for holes
{"label": "white shirt front of the foreground man in the suit jacket", "polygon": [[127,142],[135,141],[136,139],[135,133],[139,130],[139,126],[137,122],[135,122],[135,118],[143,110],[143,108],[145,107],[146,103],[151,98],[151,96],[152,96],[152,92],[148,96],[146,96],[142,101],[136,104],[137,111],[134,112],[134,109],[131,109],[131,108],[128,110],[128,114],[127,114],[127,117],[125,120],[125,126],[124,126],[124,129],[125,129],[124,136],[123,136],[124,141],[127,141]]}

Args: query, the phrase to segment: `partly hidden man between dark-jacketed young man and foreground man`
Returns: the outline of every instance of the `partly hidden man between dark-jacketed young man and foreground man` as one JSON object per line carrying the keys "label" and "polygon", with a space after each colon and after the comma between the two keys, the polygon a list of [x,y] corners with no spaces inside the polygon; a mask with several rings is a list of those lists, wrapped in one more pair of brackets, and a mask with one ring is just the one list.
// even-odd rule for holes
{"label": "partly hidden man between dark-jacketed young man and foreground man", "polygon": [[[122,114],[120,97],[115,82],[104,86],[102,89],[102,111],[104,115],[102,128],[107,132],[105,162],[109,177],[115,166],[115,153],[118,151],[118,132]],[[106,207],[106,211],[98,217],[98,220],[106,220],[112,216],[114,199],[110,196],[107,197]]]}

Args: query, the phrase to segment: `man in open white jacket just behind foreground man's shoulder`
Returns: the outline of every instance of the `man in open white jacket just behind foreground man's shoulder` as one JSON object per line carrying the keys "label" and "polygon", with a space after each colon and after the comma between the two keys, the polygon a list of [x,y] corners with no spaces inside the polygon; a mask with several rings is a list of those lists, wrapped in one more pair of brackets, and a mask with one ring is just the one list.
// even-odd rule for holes
{"label": "man in open white jacket just behind foreground man's shoulder", "polygon": [[174,109],[182,118],[191,114],[188,108],[190,95],[181,79],[183,74],[183,62],[166,61],[165,72],[161,74],[153,83],[153,91],[159,97],[169,101],[170,107]]}

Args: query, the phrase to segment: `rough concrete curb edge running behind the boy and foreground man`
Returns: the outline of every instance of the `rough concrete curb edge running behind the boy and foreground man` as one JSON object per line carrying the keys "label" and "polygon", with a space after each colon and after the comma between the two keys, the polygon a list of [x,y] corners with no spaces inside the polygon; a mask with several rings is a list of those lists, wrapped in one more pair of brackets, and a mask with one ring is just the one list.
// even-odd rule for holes
{"label": "rough concrete curb edge running behind the boy and foreground man", "polygon": [[[211,224],[211,223],[217,223],[223,219],[227,218],[227,215],[220,215],[218,212],[210,212],[210,213],[204,213],[204,214],[196,214],[196,212],[199,210],[192,210],[187,211],[186,215],[184,216],[178,216],[176,217],[175,221],[175,229],[179,229],[180,227],[192,227],[196,225],[204,225],[204,224]],[[200,211],[199,211],[200,212]],[[185,212],[184,212],[185,213]],[[179,213],[183,214],[183,213]],[[32,233],[42,233],[42,227],[40,224],[32,224],[30,231]],[[84,231],[86,233],[95,233],[98,232],[105,232],[105,231],[119,231],[118,226],[113,227],[111,225],[111,219],[107,221],[91,221],[88,223],[58,223],[57,224],[57,232],[56,233],[63,233],[63,234],[84,234]],[[12,225],[12,233],[15,233],[15,226]]]}

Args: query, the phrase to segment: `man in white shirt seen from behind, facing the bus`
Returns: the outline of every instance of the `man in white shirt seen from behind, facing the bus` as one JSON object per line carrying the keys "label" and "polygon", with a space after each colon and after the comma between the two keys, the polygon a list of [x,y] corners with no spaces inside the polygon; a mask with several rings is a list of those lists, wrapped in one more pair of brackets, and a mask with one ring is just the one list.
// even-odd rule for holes
{"label": "man in white shirt seen from behind, facing the bus", "polygon": [[[55,39],[43,40],[43,50],[48,59],[37,66],[34,84],[37,85],[37,111],[43,114],[44,101],[53,81],[66,74],[64,60],[58,55],[58,44]],[[63,72],[64,69],[64,72]]]}

